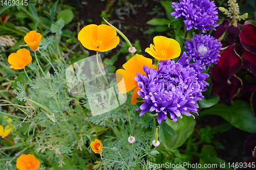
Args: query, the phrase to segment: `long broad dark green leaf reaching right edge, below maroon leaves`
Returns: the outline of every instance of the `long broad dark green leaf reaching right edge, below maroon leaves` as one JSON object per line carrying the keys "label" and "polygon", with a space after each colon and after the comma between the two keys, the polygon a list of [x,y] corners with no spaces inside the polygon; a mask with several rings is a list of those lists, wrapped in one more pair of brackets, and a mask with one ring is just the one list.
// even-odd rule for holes
{"label": "long broad dark green leaf reaching right edge, below maroon leaves", "polygon": [[218,104],[199,113],[200,116],[207,114],[219,115],[238,129],[256,133],[256,117],[250,104],[244,101],[234,101],[231,107]]}

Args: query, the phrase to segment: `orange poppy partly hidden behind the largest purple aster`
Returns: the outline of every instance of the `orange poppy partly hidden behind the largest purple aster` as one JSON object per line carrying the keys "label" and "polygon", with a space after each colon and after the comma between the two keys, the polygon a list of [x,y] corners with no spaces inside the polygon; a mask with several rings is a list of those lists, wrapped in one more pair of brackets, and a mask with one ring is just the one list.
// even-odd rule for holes
{"label": "orange poppy partly hidden behind the largest purple aster", "polygon": [[[157,69],[157,67],[152,64],[152,59],[136,54],[134,57],[132,57],[130,60],[123,64],[124,69],[118,69],[116,71],[116,79],[118,82],[117,86],[120,93],[126,93],[135,88],[132,95],[132,105],[139,102],[137,101],[137,98],[139,97],[137,92],[140,90],[134,77],[137,77],[137,72],[142,75],[146,75],[145,71],[143,70],[144,65],[146,65],[148,68]],[[124,84],[121,81],[122,79],[124,80]]]}

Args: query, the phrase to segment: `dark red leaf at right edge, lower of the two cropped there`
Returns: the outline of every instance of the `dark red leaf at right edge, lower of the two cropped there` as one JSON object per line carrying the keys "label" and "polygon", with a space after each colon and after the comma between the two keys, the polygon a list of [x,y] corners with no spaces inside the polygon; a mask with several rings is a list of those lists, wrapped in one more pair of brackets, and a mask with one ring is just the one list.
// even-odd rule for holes
{"label": "dark red leaf at right edge, lower of the two cropped there", "polygon": [[243,67],[250,70],[253,75],[256,75],[256,55],[245,50],[243,54]]}

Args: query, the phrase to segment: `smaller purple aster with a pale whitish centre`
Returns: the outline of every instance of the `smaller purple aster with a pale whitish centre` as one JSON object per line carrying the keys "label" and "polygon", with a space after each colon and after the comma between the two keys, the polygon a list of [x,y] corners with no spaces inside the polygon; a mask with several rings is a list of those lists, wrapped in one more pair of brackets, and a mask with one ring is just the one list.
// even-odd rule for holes
{"label": "smaller purple aster with a pale whitish centre", "polygon": [[211,63],[217,64],[221,55],[221,42],[210,35],[194,35],[193,40],[186,41],[187,54],[199,66],[205,67]]}

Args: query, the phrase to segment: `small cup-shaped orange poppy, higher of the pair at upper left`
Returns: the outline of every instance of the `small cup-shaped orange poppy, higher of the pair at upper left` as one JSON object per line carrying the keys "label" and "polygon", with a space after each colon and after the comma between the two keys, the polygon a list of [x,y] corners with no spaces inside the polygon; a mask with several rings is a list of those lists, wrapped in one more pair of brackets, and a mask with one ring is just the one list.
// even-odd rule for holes
{"label": "small cup-shaped orange poppy, higher of the pair at upper left", "polygon": [[41,39],[42,35],[34,30],[27,33],[24,37],[24,41],[29,45],[33,52],[38,49]]}

